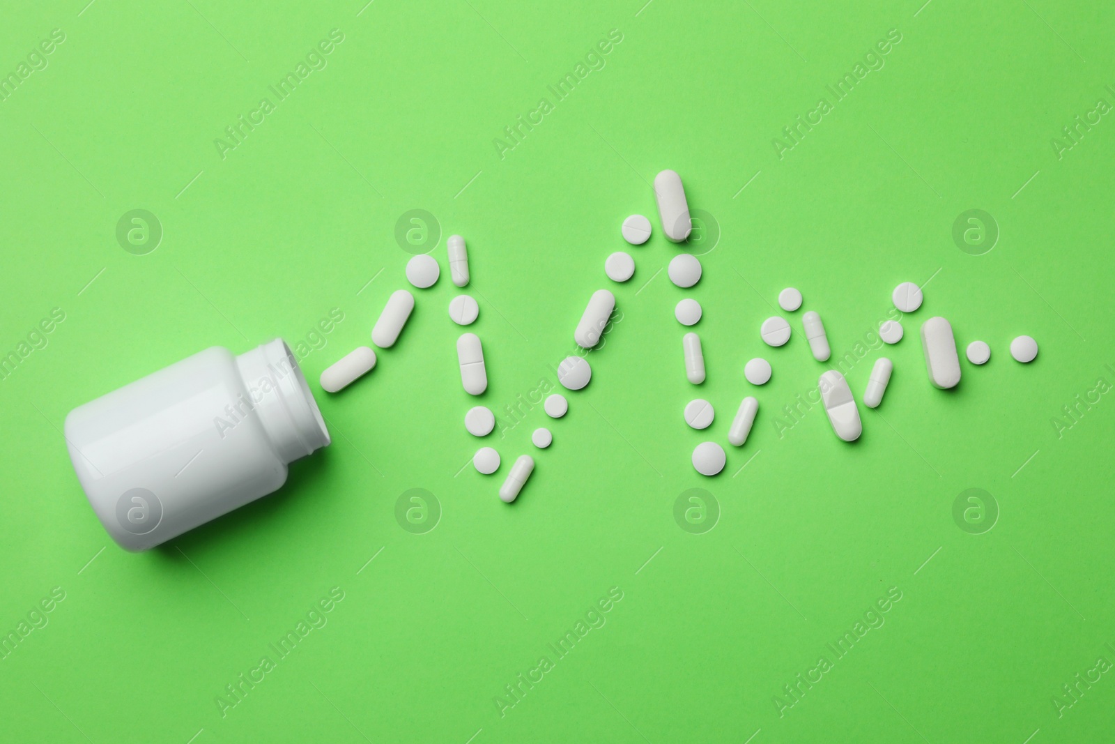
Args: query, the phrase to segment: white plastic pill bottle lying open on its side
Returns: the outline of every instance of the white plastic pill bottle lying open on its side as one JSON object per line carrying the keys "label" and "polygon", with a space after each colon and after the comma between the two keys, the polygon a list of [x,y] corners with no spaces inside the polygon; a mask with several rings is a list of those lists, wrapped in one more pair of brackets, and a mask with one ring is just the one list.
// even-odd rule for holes
{"label": "white plastic pill bottle lying open on its side", "polygon": [[140,551],[275,491],[329,431],[275,339],[206,349],[75,408],[66,444],[105,529]]}

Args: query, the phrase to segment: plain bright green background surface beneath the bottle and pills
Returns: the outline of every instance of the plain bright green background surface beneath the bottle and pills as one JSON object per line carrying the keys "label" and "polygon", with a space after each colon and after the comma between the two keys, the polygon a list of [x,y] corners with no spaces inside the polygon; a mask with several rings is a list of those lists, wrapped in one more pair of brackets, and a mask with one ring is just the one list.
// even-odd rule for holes
{"label": "plain bright green background surface beneath the bottle and pills", "polygon": [[[1053,145],[1097,99],[1115,103],[1108,4],[85,2],[8,3],[0,22],[3,75],[65,32],[0,102],[0,351],[65,312],[0,380],[0,631],[65,592],[0,661],[0,738],[1108,735],[1112,675],[1075,702],[1061,686],[1115,661],[1115,402],[1096,393],[1070,428],[1051,421],[1115,381],[1115,123],[1080,127],[1059,156]],[[278,102],[269,86],[334,28],[327,67]],[[604,67],[559,102],[547,85],[611,29],[622,41]],[[826,86],[891,29],[901,42],[885,65],[779,158],[783,127],[832,103]],[[275,110],[222,158],[214,141],[263,97]],[[493,141],[543,97],[553,110],[501,158]],[[689,249],[704,252],[692,290],[657,273],[679,250],[649,185],[667,167],[711,215]],[[144,255],[116,239],[135,209],[163,230]],[[413,209],[439,225],[442,280],[415,291],[375,371],[327,396],[317,376],[368,344],[406,287],[395,226]],[[981,255],[952,238],[971,209],[998,225]],[[655,224],[643,247],[620,239],[631,213]],[[621,313],[564,419],[523,406],[484,442],[503,456],[494,476],[466,466],[479,443],[462,425],[474,400],[446,315],[452,233],[468,241],[482,402],[497,414],[553,384],[593,290],[613,289]],[[615,250],[637,261],[627,284],[603,276]],[[849,371],[860,397],[875,357],[895,366],[882,407],[861,405],[862,439],[836,439],[817,407],[787,427],[779,410],[826,365],[802,311],[787,346],[762,345],[777,292],[797,287],[803,311],[822,315],[835,364],[906,280],[929,281],[906,338]],[[685,296],[705,309],[696,389],[673,319]],[[333,308],[343,321],[302,360],[333,444],[269,497],[147,553],[117,548],[74,476],[67,412],[209,346],[298,344]],[[952,393],[925,377],[918,329],[932,315],[961,349],[991,345],[985,367],[962,361]],[[1031,365],[1009,357],[1019,334],[1040,344]],[[774,377],[753,388],[743,366],[759,355]],[[727,429],[749,394],[758,419],[737,450]],[[704,433],[681,418],[698,395],[718,412]],[[530,444],[541,425],[546,452]],[[715,479],[690,464],[709,438],[729,450]],[[505,505],[500,483],[530,452],[534,475]],[[424,534],[396,519],[415,487],[440,510]],[[675,520],[692,487],[719,512],[700,534]],[[990,494],[993,522],[953,518],[972,487]],[[334,587],[345,598],[328,624],[222,715],[225,685]],[[607,624],[558,658],[547,644],[613,587]],[[826,644],[891,588],[901,600],[884,624],[836,659]],[[822,655],[833,668],[779,711],[775,696],[793,702],[784,686]],[[553,669],[501,715],[495,698],[542,656]],[[1074,704],[1058,715],[1055,695]]]}

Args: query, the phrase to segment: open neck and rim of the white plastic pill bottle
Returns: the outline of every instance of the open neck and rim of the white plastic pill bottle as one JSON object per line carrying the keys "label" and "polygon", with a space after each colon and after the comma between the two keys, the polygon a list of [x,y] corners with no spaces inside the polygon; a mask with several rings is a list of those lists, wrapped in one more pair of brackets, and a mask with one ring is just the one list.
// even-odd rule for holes
{"label": "open neck and rim of the white plastic pill bottle", "polygon": [[290,347],[277,338],[236,357],[252,412],[283,462],[329,444],[329,429]]}

